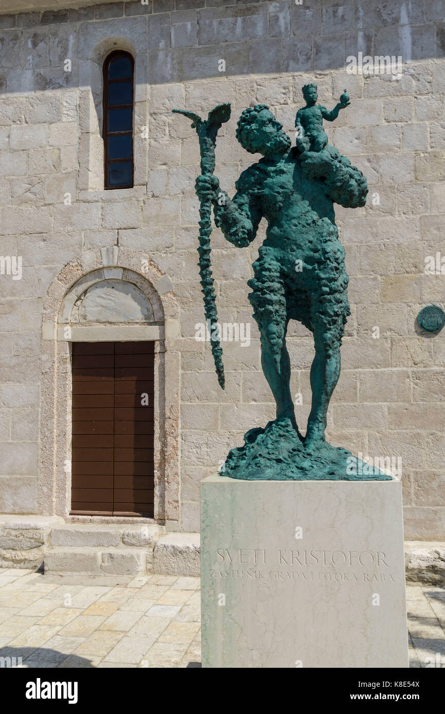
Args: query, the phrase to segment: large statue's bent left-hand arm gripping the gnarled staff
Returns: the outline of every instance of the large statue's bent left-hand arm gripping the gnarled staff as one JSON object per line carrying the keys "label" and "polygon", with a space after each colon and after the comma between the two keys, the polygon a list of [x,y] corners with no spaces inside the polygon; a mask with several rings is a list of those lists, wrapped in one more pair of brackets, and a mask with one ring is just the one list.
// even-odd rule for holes
{"label": "large statue's bent left-hand arm gripping the gnarled staff", "polygon": [[[244,182],[242,182],[244,183]],[[226,191],[219,188],[216,176],[198,176],[196,179],[196,193],[211,192],[211,201],[214,206],[215,224],[224,233],[224,237],[238,248],[249,246],[258,231],[261,221],[261,211],[256,205],[251,192],[246,190],[239,181],[234,198],[230,198]]]}

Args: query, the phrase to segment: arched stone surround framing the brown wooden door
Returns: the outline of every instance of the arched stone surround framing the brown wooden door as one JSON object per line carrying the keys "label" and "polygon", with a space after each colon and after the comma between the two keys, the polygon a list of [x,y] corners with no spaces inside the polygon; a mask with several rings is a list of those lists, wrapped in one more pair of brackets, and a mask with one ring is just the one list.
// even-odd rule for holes
{"label": "arched stone surround framing the brown wooden door", "polygon": [[[70,323],[69,315],[77,296],[86,286],[103,281],[106,276],[116,279],[116,271],[121,279],[144,292],[153,306],[156,324]],[[44,301],[41,334],[40,515],[70,519],[72,341],[149,339],[155,341],[155,469],[154,519],[146,521],[165,523],[169,530],[178,530],[178,337],[178,304],[171,280],[143,253],[116,246],[88,251],[64,266],[54,278]],[[94,522],[94,518],[89,517],[89,522]],[[103,520],[101,516],[97,518]]]}

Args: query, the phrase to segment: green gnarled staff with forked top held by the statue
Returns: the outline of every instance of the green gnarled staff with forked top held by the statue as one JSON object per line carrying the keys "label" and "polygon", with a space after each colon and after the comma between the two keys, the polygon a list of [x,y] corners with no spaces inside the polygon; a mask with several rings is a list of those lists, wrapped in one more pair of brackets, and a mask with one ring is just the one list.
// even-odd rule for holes
{"label": "green gnarled staff with forked top held by the statue", "polygon": [[[184,114],[191,119],[191,126],[196,129],[199,139],[199,150],[201,153],[201,174],[213,174],[215,169],[215,144],[216,134],[218,134],[221,125],[230,119],[230,104],[218,104],[214,109],[209,111],[209,116],[206,120],[201,119],[198,114],[193,111],[184,111],[182,109],[173,109],[176,114]],[[224,389],[224,366],[222,362],[222,348],[219,343],[219,338],[216,336],[212,326],[218,321],[218,313],[216,311],[214,278],[211,274],[211,200],[204,199],[199,207],[199,276],[201,278],[201,292],[204,294],[204,313],[206,316],[206,324],[209,324],[210,329],[210,344],[211,353],[214,356],[216,374],[218,375],[219,386]]]}

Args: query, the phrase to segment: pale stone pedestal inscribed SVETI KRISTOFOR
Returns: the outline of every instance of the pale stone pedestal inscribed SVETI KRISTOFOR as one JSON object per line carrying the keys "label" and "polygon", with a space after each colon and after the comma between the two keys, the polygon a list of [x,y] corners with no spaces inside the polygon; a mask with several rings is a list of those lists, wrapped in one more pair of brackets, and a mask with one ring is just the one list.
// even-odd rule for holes
{"label": "pale stone pedestal inscribed SVETI KRISTOFOR", "polygon": [[201,482],[202,665],[407,667],[399,481]]}

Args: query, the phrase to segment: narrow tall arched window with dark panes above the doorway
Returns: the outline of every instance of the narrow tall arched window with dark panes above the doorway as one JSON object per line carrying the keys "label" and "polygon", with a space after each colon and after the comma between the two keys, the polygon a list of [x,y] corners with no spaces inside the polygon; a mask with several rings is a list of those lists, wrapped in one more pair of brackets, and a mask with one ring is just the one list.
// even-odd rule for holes
{"label": "narrow tall arched window with dark panes above the doorway", "polygon": [[133,186],[134,59],[116,51],[104,62],[104,186]]}

